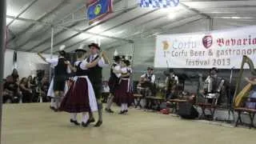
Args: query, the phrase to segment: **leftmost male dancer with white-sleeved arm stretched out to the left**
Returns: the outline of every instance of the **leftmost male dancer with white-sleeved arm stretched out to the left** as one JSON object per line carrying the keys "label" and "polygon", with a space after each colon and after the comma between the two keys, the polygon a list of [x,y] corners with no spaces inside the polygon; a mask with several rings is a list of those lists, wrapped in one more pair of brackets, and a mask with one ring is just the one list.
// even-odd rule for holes
{"label": "leftmost male dancer with white-sleeved arm stretched out to the left", "polygon": [[39,57],[47,63],[54,66],[54,99],[55,111],[58,111],[62,96],[64,96],[64,89],[66,84],[67,74],[70,73],[70,62],[66,60],[66,46],[61,46],[58,51],[58,58],[48,59],[38,53]]}

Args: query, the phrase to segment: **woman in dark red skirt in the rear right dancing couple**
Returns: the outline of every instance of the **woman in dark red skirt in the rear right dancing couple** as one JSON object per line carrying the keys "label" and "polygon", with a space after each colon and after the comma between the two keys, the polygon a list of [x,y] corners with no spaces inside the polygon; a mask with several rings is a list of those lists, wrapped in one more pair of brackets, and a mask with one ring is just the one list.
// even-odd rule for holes
{"label": "woman in dark red skirt in the rear right dancing couple", "polygon": [[122,76],[119,81],[119,87],[115,90],[114,102],[119,106],[121,105],[121,111],[119,114],[126,114],[128,112],[128,106],[134,102],[134,96],[132,94],[130,85],[130,75],[132,70],[130,69],[130,61],[122,60]]}

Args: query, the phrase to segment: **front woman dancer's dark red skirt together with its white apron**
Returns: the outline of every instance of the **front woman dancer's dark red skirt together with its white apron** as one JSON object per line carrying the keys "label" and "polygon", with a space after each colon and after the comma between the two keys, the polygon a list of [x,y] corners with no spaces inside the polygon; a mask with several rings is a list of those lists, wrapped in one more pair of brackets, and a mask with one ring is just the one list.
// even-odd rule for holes
{"label": "front woman dancer's dark red skirt together with its white apron", "polygon": [[61,111],[68,113],[94,112],[98,110],[93,86],[87,76],[74,77],[74,82],[62,100]]}

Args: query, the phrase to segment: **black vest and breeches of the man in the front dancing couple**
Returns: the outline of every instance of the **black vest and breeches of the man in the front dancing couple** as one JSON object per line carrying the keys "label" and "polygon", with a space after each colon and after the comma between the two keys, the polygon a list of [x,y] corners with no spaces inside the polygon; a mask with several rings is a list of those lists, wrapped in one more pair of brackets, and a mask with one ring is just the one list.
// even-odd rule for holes
{"label": "black vest and breeches of the man in the front dancing couple", "polygon": [[[94,62],[99,56],[95,57],[92,62]],[[86,62],[90,63],[90,58],[86,59]],[[97,99],[101,98],[102,95],[102,67],[98,64],[94,67],[88,69],[88,78],[94,87],[94,94]]]}

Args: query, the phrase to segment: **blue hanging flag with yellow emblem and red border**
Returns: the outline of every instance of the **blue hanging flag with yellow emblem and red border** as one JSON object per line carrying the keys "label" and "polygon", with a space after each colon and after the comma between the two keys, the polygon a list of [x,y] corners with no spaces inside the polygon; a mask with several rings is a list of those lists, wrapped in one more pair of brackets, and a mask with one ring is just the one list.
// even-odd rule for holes
{"label": "blue hanging flag with yellow emblem and red border", "polygon": [[112,11],[112,0],[90,0],[90,3],[87,3],[87,18],[89,19],[89,24],[106,20],[106,16]]}

